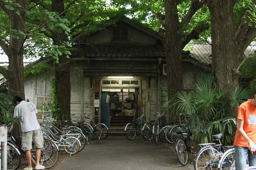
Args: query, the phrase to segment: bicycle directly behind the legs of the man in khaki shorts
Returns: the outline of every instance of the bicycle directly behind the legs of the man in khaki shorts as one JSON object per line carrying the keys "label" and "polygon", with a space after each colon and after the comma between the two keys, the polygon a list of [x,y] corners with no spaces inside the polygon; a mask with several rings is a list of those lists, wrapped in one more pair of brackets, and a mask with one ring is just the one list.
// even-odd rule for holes
{"label": "bicycle directly behind the legs of the man in khaki shorts", "polygon": [[[21,153],[25,156],[26,151],[21,148],[21,141],[12,135],[12,130],[9,131],[7,138],[7,169],[17,170],[21,162]],[[44,145],[41,148],[40,164],[44,165],[46,169],[51,168],[56,164],[59,158],[58,146],[49,139],[44,138]],[[32,142],[32,162],[36,165],[36,148]],[[26,157],[25,157],[26,159]]]}

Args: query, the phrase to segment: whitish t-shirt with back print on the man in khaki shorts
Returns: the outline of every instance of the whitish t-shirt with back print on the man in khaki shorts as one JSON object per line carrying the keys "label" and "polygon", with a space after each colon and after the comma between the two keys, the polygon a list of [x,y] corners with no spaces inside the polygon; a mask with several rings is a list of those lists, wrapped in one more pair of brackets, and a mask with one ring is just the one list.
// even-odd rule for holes
{"label": "whitish t-shirt with back print on the man in khaki shorts", "polygon": [[14,110],[13,117],[21,117],[21,131],[29,132],[40,129],[37,121],[37,108],[31,102],[21,101]]}

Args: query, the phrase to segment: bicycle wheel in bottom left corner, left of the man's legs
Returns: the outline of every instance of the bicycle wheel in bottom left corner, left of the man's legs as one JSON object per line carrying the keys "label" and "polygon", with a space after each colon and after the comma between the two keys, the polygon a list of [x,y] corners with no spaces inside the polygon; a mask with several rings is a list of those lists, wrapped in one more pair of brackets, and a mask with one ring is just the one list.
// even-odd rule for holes
{"label": "bicycle wheel in bottom left corner, left of the man's legs", "polygon": [[7,169],[17,170],[21,164],[21,156],[15,146],[7,142]]}

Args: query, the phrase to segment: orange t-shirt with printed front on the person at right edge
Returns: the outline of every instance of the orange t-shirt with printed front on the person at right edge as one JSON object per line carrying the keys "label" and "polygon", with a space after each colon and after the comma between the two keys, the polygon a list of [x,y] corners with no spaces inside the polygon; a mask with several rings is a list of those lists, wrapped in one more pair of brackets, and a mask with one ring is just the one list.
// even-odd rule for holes
{"label": "orange t-shirt with printed front on the person at right edge", "polygon": [[[237,109],[237,119],[244,120],[244,131],[254,144],[256,144],[256,106],[253,106],[250,100],[252,99],[247,100],[239,106]],[[233,145],[248,147],[248,143],[238,132],[238,128]]]}

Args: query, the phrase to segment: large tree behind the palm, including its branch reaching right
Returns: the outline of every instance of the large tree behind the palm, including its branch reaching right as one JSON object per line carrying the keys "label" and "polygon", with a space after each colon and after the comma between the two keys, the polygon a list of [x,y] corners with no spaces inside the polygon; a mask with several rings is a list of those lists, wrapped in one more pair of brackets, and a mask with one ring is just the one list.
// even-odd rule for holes
{"label": "large tree behind the palm, including its branch reaching right", "polygon": [[[239,58],[256,36],[255,5],[256,1],[251,0],[207,0],[212,27],[212,72],[218,89],[239,83]],[[236,115],[236,109],[229,110],[229,114]]]}

